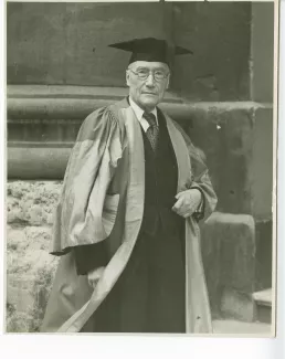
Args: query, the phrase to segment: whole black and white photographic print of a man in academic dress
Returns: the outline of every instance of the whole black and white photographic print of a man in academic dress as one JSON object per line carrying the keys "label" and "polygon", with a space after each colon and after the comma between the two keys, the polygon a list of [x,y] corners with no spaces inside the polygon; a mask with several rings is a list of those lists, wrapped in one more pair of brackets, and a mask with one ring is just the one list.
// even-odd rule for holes
{"label": "whole black and white photographic print of a man in academic dress", "polygon": [[275,336],[278,1],[6,3],[6,334]]}

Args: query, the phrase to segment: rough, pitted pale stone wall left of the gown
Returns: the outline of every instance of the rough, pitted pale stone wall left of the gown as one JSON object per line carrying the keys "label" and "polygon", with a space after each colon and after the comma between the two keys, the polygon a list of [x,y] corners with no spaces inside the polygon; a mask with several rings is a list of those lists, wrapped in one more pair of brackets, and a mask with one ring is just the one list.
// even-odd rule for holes
{"label": "rough, pitted pale stone wall left of the gown", "polygon": [[7,331],[38,331],[57,258],[49,254],[61,182],[7,184]]}

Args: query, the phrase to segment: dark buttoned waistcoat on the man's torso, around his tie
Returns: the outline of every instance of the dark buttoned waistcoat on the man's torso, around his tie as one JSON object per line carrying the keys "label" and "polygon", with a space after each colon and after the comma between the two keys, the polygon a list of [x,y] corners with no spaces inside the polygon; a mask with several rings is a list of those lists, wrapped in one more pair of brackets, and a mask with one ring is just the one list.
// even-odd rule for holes
{"label": "dark buttoned waistcoat on the man's torso, around his tie", "polygon": [[141,128],[145,148],[145,211],[141,231],[155,234],[158,229],[176,231],[182,218],[171,208],[176,202],[178,167],[166,119],[158,110],[159,136],[152,150]]}

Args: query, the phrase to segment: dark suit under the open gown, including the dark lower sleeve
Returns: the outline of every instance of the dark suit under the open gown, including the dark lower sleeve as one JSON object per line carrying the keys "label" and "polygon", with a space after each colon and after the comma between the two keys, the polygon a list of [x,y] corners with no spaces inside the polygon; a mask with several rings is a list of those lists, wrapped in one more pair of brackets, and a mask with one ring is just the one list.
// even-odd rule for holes
{"label": "dark suit under the open gown, including the dark lower sleeve", "polygon": [[[178,168],[166,119],[159,110],[158,123],[155,151],[141,127],[145,205],[137,242],[117,283],[91,317],[92,323],[81,331],[186,331],[184,220],[171,210],[177,201]],[[75,247],[80,274],[107,264],[104,244],[103,241],[101,245]]]}

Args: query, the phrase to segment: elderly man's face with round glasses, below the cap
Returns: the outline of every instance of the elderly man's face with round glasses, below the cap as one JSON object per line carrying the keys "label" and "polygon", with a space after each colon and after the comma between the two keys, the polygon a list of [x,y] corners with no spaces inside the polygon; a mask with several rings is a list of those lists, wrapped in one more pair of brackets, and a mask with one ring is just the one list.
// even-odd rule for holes
{"label": "elderly man's face with round glasses, below the cap", "polygon": [[169,84],[169,67],[162,62],[137,61],[129,65],[126,80],[131,99],[150,112],[163,98]]}

